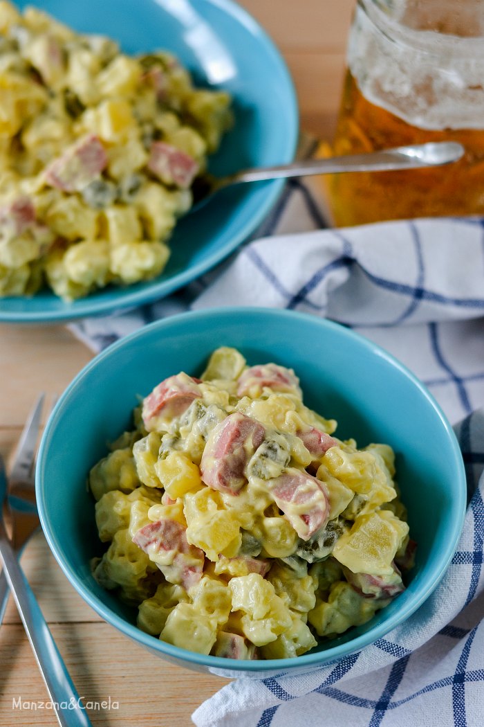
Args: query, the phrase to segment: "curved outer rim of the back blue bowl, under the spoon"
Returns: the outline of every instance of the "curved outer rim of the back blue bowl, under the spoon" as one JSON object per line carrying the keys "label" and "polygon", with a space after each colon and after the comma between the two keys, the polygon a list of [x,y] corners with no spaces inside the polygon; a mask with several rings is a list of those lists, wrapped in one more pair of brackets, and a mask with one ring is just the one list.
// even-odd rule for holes
{"label": "curved outer rim of the back blue bowl, under the spoon", "polygon": [[[156,0],[155,0],[156,1]],[[268,54],[274,58],[276,63],[279,65],[281,78],[284,80],[285,92],[289,104],[284,110],[284,116],[287,118],[287,126],[289,133],[285,137],[284,147],[280,150],[279,164],[289,164],[295,156],[298,148],[298,134],[299,134],[299,105],[298,96],[295,91],[294,81],[290,74],[282,53],[279,51],[275,42],[271,39],[271,36],[264,30],[262,25],[250,15],[245,8],[241,7],[234,0],[205,0],[213,6],[226,12],[227,15],[234,17],[237,22],[242,25],[247,31],[258,37],[262,41],[263,47],[266,48]],[[284,179],[271,180],[268,182],[259,182],[266,188],[266,197],[263,202],[259,204],[257,210],[250,215],[246,215],[245,222],[240,222],[239,230],[234,236],[231,236],[222,246],[218,246],[205,260],[197,262],[192,265],[188,270],[182,270],[180,273],[171,276],[166,280],[156,282],[156,278],[153,281],[145,281],[148,284],[147,289],[141,289],[138,291],[131,291],[130,286],[126,288],[119,287],[115,288],[111,292],[114,295],[114,299],[108,294],[106,300],[93,302],[91,296],[80,298],[78,301],[73,302],[72,310],[69,310],[68,303],[65,303],[65,308],[60,310],[28,310],[15,311],[8,310],[2,307],[2,301],[7,302],[9,300],[18,300],[17,297],[0,297],[0,322],[1,323],[14,323],[14,324],[32,324],[41,323],[49,324],[61,321],[75,321],[78,318],[85,318],[86,316],[102,316],[106,313],[116,313],[120,310],[127,310],[128,308],[134,308],[137,305],[144,305],[147,303],[154,302],[155,300],[162,299],[169,294],[179,290],[184,285],[191,283],[196,278],[199,278],[208,270],[212,270],[222,262],[226,257],[235,252],[242,242],[244,242],[258,226],[263,222],[264,217],[271,211],[276,204],[279,196],[282,194],[285,184]],[[243,202],[248,204],[249,198]],[[168,241],[169,243],[169,241]],[[102,295],[106,289],[100,289],[96,294]],[[52,295],[54,295],[52,293]],[[24,297],[28,299],[27,296]],[[36,296],[30,297],[30,300],[36,301]]]}

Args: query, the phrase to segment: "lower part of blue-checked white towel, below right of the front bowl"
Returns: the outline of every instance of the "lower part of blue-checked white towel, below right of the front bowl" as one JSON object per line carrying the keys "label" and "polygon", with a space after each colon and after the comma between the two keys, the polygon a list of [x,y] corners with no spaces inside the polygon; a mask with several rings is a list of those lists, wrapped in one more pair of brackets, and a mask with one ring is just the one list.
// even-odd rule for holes
{"label": "lower part of blue-checked white towel, below right of the front bowl", "polygon": [[454,428],[469,505],[437,590],[385,638],[335,664],[230,683],[194,712],[197,727],[482,727],[484,410]]}

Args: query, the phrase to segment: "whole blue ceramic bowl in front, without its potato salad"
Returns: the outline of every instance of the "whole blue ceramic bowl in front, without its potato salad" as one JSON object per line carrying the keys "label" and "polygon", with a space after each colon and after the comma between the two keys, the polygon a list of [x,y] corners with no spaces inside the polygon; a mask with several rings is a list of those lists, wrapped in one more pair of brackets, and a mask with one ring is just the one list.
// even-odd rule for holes
{"label": "whole blue ceramic bowl in front, without its potato salad", "polygon": [[[239,348],[250,364],[295,369],[305,402],[335,417],[337,434],[358,446],[389,443],[409,510],[417,563],[406,590],[364,626],[295,659],[232,661],[176,648],[136,628],[136,610],[94,581],[100,555],[89,468],[129,426],[139,395],[161,379],[202,371],[212,350]],[[283,310],[212,309],[173,316],[123,338],[94,358],[67,388],[46,426],[38,455],[37,501],[52,551],[83,599],[107,622],[153,653],[229,677],[307,671],[372,643],[405,621],[430,595],[456,548],[466,487],[459,446],[427,390],[398,361],[337,324]],[[126,658],[128,658],[126,643]]]}

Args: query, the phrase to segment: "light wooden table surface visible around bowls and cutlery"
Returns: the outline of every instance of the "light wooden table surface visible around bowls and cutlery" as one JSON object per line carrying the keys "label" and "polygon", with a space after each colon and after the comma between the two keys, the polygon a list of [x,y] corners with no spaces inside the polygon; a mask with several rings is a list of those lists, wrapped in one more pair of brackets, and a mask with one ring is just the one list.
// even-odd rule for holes
{"label": "light wooden table surface visible around bowls and cutlery", "polygon": [[[242,0],[282,51],[298,91],[301,127],[330,138],[343,78],[345,41],[354,0]],[[91,358],[65,326],[0,324],[0,451],[9,457],[40,391],[47,404]],[[151,656],[102,621],[54,561],[41,532],[22,566],[79,694],[111,699],[118,709],[91,710],[94,727],[179,727],[226,680],[175,667]],[[13,701],[46,699],[28,640],[9,602],[0,629],[0,726],[57,724],[52,712],[20,710]]]}

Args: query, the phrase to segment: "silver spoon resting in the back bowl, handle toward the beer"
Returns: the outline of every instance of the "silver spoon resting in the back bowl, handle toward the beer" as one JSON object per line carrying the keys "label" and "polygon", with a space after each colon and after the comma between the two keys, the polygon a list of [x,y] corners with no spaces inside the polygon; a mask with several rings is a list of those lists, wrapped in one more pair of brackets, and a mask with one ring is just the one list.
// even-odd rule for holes
{"label": "silver spoon resting in the back bowl, handle toward the beer", "polygon": [[306,177],[310,174],[340,174],[340,172],[389,172],[393,169],[423,169],[426,166],[440,166],[458,161],[464,154],[462,144],[454,141],[427,142],[382,149],[365,154],[332,156],[325,159],[308,159],[292,164],[266,166],[259,169],[244,169],[227,177],[213,177],[210,174],[197,177],[193,185],[194,205],[199,209],[208,199],[229,185],[242,182],[261,182],[281,177]]}

